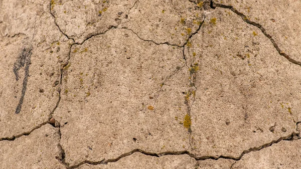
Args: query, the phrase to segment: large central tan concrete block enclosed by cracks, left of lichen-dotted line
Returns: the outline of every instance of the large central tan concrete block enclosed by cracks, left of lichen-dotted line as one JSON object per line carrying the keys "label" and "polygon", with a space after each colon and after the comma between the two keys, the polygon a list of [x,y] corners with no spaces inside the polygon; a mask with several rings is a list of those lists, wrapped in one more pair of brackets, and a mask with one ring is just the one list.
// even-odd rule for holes
{"label": "large central tan concrete block enclosed by cracks, left of lichen-dotted line", "polygon": [[189,135],[180,121],[189,74],[182,54],[122,29],[73,46],[54,115],[65,124],[66,162],[116,158],[135,148],[186,150]]}

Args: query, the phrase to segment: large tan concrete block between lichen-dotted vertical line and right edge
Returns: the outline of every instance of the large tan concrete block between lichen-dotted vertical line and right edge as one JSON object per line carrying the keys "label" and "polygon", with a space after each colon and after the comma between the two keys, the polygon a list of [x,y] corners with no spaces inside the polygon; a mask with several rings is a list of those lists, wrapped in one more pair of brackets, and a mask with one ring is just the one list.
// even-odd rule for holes
{"label": "large tan concrete block between lichen-dotted vertical line and right edge", "polygon": [[197,88],[192,153],[239,158],[297,132],[301,68],[280,56],[258,28],[216,8],[185,55]]}

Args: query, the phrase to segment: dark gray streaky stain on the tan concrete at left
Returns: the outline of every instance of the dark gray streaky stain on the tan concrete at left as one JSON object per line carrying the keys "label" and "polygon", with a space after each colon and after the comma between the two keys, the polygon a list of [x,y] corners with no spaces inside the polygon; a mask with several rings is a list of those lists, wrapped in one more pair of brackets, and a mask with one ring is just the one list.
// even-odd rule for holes
{"label": "dark gray streaky stain on the tan concrete at left", "polygon": [[22,108],[22,104],[23,104],[23,100],[24,100],[24,96],[25,96],[25,92],[26,92],[26,86],[27,86],[27,80],[28,80],[28,76],[29,76],[29,66],[30,66],[30,58],[32,55],[32,48],[23,48],[20,56],[17,58],[17,61],[14,64],[14,73],[16,75],[16,80],[18,81],[20,76],[19,76],[19,70],[25,66],[25,76],[23,79],[23,87],[22,87],[22,93],[21,93],[21,97],[19,100],[19,104],[16,108],[16,114],[19,114]]}

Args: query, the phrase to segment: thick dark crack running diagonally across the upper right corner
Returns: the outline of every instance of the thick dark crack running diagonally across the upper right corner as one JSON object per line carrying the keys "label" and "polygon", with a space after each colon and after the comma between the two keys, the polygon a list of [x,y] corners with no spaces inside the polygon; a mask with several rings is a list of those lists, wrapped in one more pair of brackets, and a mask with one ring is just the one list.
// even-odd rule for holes
{"label": "thick dark crack running diagonally across the upper right corner", "polygon": [[244,15],[244,14],[241,13],[241,12],[239,12],[238,10],[236,10],[236,9],[235,9],[234,7],[232,7],[232,6],[226,6],[226,5],[222,5],[222,4],[217,4],[217,3],[215,3],[215,2],[213,2],[213,1],[211,0],[211,2],[210,2],[210,7],[211,7],[212,9],[215,9],[216,7],[219,7],[219,8],[224,8],[224,9],[229,9],[229,10],[231,10],[233,13],[235,13],[235,14],[238,15],[238,16],[240,16],[241,19],[242,19],[245,23],[257,27],[257,28],[263,33],[263,35],[264,35],[265,37],[267,37],[267,38],[271,41],[271,43],[273,44],[274,48],[275,48],[276,51],[279,53],[279,55],[281,55],[281,56],[283,56],[284,58],[286,58],[289,62],[301,66],[301,62],[296,61],[296,60],[290,58],[286,53],[284,53],[284,52],[278,47],[278,45],[276,44],[275,40],[272,38],[271,35],[269,35],[269,34],[266,33],[266,31],[265,31],[265,29],[262,27],[262,25],[260,25],[260,24],[258,24],[258,23],[255,23],[255,22],[253,22],[253,21],[250,21],[246,15]]}

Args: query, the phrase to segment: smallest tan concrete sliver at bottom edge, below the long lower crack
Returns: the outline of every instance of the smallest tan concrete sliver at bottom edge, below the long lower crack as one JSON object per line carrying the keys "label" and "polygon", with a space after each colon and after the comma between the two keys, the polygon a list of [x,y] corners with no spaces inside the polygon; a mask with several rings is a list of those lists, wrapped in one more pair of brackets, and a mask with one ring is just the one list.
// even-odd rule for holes
{"label": "smallest tan concrete sliver at bottom edge, below the long lower crack", "polygon": [[230,169],[234,163],[235,160],[233,159],[206,159],[198,161],[198,169]]}

